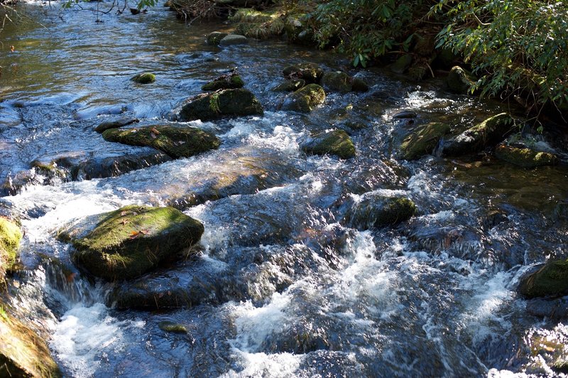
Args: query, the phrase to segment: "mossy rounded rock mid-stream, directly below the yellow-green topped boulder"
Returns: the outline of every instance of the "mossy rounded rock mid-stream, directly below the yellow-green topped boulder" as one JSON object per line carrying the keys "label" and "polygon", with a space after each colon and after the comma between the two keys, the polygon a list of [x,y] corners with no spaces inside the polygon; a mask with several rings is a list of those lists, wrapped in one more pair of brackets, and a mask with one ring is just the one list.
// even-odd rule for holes
{"label": "mossy rounded rock mid-stream, directly below the yellow-green topped boulder", "polygon": [[322,132],[308,138],[300,148],[305,153],[314,155],[335,155],[340,158],[352,158],[355,156],[355,146],[349,134],[343,130]]}

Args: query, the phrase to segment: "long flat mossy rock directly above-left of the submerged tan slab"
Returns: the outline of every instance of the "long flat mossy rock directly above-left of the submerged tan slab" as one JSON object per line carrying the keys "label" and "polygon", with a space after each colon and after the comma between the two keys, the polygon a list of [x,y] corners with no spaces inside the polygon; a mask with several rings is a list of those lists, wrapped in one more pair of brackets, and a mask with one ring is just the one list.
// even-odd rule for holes
{"label": "long flat mossy rock directly above-left of the submerged tan slab", "polygon": [[146,126],[136,129],[109,129],[102,133],[105,141],[129,146],[150,146],[171,158],[188,158],[219,147],[221,142],[195,127]]}

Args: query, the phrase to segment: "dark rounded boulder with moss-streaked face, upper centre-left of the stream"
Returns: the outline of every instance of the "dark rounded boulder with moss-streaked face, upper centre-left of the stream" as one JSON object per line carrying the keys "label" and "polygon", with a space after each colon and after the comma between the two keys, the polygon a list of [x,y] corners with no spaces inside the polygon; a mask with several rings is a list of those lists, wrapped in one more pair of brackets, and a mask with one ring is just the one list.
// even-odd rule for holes
{"label": "dark rounded boulder with moss-streaked face, upper centre-left of the stream", "polygon": [[180,121],[212,121],[227,117],[262,115],[263,108],[249,90],[222,90],[192,97],[185,101],[179,114]]}

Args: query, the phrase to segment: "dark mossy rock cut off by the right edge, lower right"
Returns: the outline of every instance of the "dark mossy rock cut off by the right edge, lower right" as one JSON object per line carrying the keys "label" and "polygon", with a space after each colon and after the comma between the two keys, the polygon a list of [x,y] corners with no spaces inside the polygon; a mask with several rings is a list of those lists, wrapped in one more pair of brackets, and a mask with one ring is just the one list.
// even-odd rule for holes
{"label": "dark mossy rock cut off by the right edge, lower right", "polygon": [[568,294],[568,259],[549,261],[520,279],[518,292],[526,298]]}

